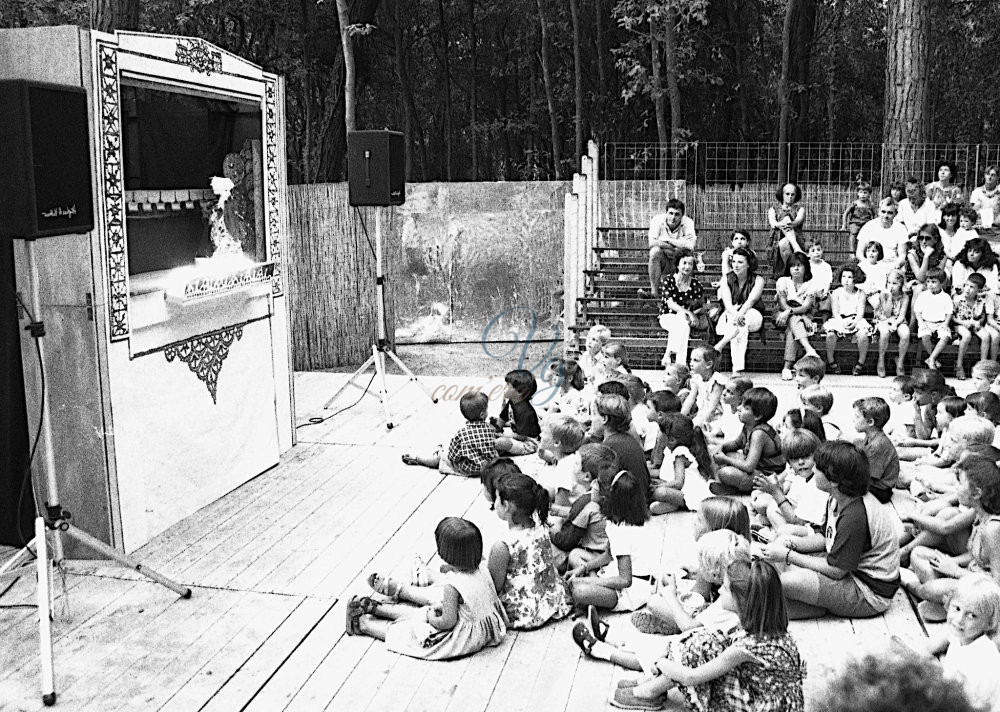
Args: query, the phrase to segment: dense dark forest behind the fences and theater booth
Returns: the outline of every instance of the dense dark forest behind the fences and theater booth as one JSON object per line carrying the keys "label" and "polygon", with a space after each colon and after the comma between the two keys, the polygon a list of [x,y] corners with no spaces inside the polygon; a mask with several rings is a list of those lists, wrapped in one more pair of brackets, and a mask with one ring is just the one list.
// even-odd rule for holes
{"label": "dense dark forest behind the fences and theater booth", "polygon": [[[877,143],[887,55],[909,61],[886,0],[0,0],[0,26],[95,1],[284,75],[292,183],[344,176],[337,5],[356,126],[405,131],[410,181],[566,178],[588,138]],[[926,140],[1000,142],[1000,1],[892,2],[927,17]]]}

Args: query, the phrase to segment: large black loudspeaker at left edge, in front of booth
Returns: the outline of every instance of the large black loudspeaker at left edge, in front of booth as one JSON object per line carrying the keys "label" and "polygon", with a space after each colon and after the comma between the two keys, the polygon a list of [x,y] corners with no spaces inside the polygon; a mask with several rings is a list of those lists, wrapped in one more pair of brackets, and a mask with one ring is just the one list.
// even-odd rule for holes
{"label": "large black loudspeaker at left edge, in front of booth", "polygon": [[94,229],[87,92],[0,82],[0,237]]}

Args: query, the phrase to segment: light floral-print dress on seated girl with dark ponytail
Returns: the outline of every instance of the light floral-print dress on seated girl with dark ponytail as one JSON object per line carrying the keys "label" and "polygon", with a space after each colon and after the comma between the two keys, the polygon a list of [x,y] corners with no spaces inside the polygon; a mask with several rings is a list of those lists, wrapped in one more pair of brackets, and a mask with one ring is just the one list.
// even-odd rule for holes
{"label": "light floral-print dress on seated girl with dark ponytail", "polygon": [[500,591],[508,627],[528,630],[569,615],[573,598],[566,580],[556,571],[548,527],[508,529],[501,540],[510,552]]}

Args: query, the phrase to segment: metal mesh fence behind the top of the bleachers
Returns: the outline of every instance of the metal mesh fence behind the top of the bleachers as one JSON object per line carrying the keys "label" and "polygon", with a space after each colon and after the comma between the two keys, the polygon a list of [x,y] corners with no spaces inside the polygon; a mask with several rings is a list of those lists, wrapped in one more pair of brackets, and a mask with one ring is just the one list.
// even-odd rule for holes
{"label": "metal mesh fence behind the top of the bleachers", "polygon": [[603,228],[641,228],[673,197],[685,201],[699,228],[767,230],[780,165],[803,191],[807,227],[838,230],[856,199],[859,178],[873,186],[873,200],[894,181],[937,179],[942,161],[955,167],[966,197],[988,165],[1000,163],[1000,146],[986,144],[846,143],[609,143],[601,151],[598,186]]}

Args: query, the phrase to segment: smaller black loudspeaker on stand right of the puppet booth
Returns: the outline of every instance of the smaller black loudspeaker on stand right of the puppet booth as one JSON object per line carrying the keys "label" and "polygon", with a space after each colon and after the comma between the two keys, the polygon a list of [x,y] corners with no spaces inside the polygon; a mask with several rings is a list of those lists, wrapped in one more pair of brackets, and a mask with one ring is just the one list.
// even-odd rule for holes
{"label": "smaller black loudspeaker on stand right of the puppet booth", "polygon": [[403,134],[398,131],[348,132],[348,202],[351,205],[405,203],[403,151]]}

